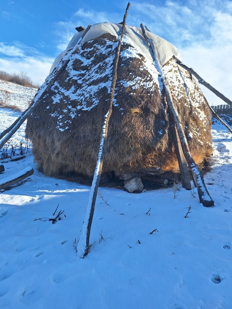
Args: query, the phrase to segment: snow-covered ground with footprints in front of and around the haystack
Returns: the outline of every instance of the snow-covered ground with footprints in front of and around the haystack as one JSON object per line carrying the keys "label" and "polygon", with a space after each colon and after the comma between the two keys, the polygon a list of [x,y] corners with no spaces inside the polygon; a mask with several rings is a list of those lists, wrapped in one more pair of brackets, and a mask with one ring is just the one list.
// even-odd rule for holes
{"label": "snow-covered ground with footprints in front of and around the haystack", "polygon": [[[212,134],[214,207],[180,184],[176,198],[173,188],[100,188],[109,205],[98,195],[84,259],[74,246],[90,187],[42,175],[32,155],[4,163],[0,179],[35,172],[0,193],[0,307],[231,309],[232,136],[218,122]],[[57,205],[66,217],[52,224]]]}

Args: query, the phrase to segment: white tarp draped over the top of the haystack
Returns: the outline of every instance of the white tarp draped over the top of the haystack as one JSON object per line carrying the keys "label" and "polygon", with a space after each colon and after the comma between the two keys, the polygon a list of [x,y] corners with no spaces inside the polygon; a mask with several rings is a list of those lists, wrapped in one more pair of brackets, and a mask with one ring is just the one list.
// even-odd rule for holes
{"label": "white tarp draped over the top of the haystack", "polygon": [[[113,36],[118,37],[121,32],[122,25],[118,23],[97,23],[93,25],[89,31],[86,33],[84,38],[79,42],[80,44],[87,42],[89,40],[95,39],[98,36],[101,36],[102,34],[105,33],[110,33]],[[54,67],[59,63],[59,61],[62,59],[64,54],[70,50],[73,49],[74,46],[77,44],[78,40],[81,38],[84,30],[81,32],[76,33],[71,41],[69,42],[66,50],[64,50],[62,53],[60,53],[50,70],[50,73],[54,70]],[[152,32],[147,31],[146,32],[147,36],[151,39],[154,40],[157,52],[158,52],[158,57],[161,62],[161,65],[164,65],[173,55],[176,57],[180,57],[177,48],[170,44],[168,41],[162,39],[160,36],[157,36],[153,34]],[[151,50],[149,49],[147,41],[144,39],[142,30],[137,27],[132,27],[126,25],[125,28],[125,34],[124,34],[125,41],[132,46],[136,44],[139,46],[140,50],[147,55],[148,58],[150,58],[151,61],[153,61],[152,53]],[[134,44],[133,44],[134,43]]]}

